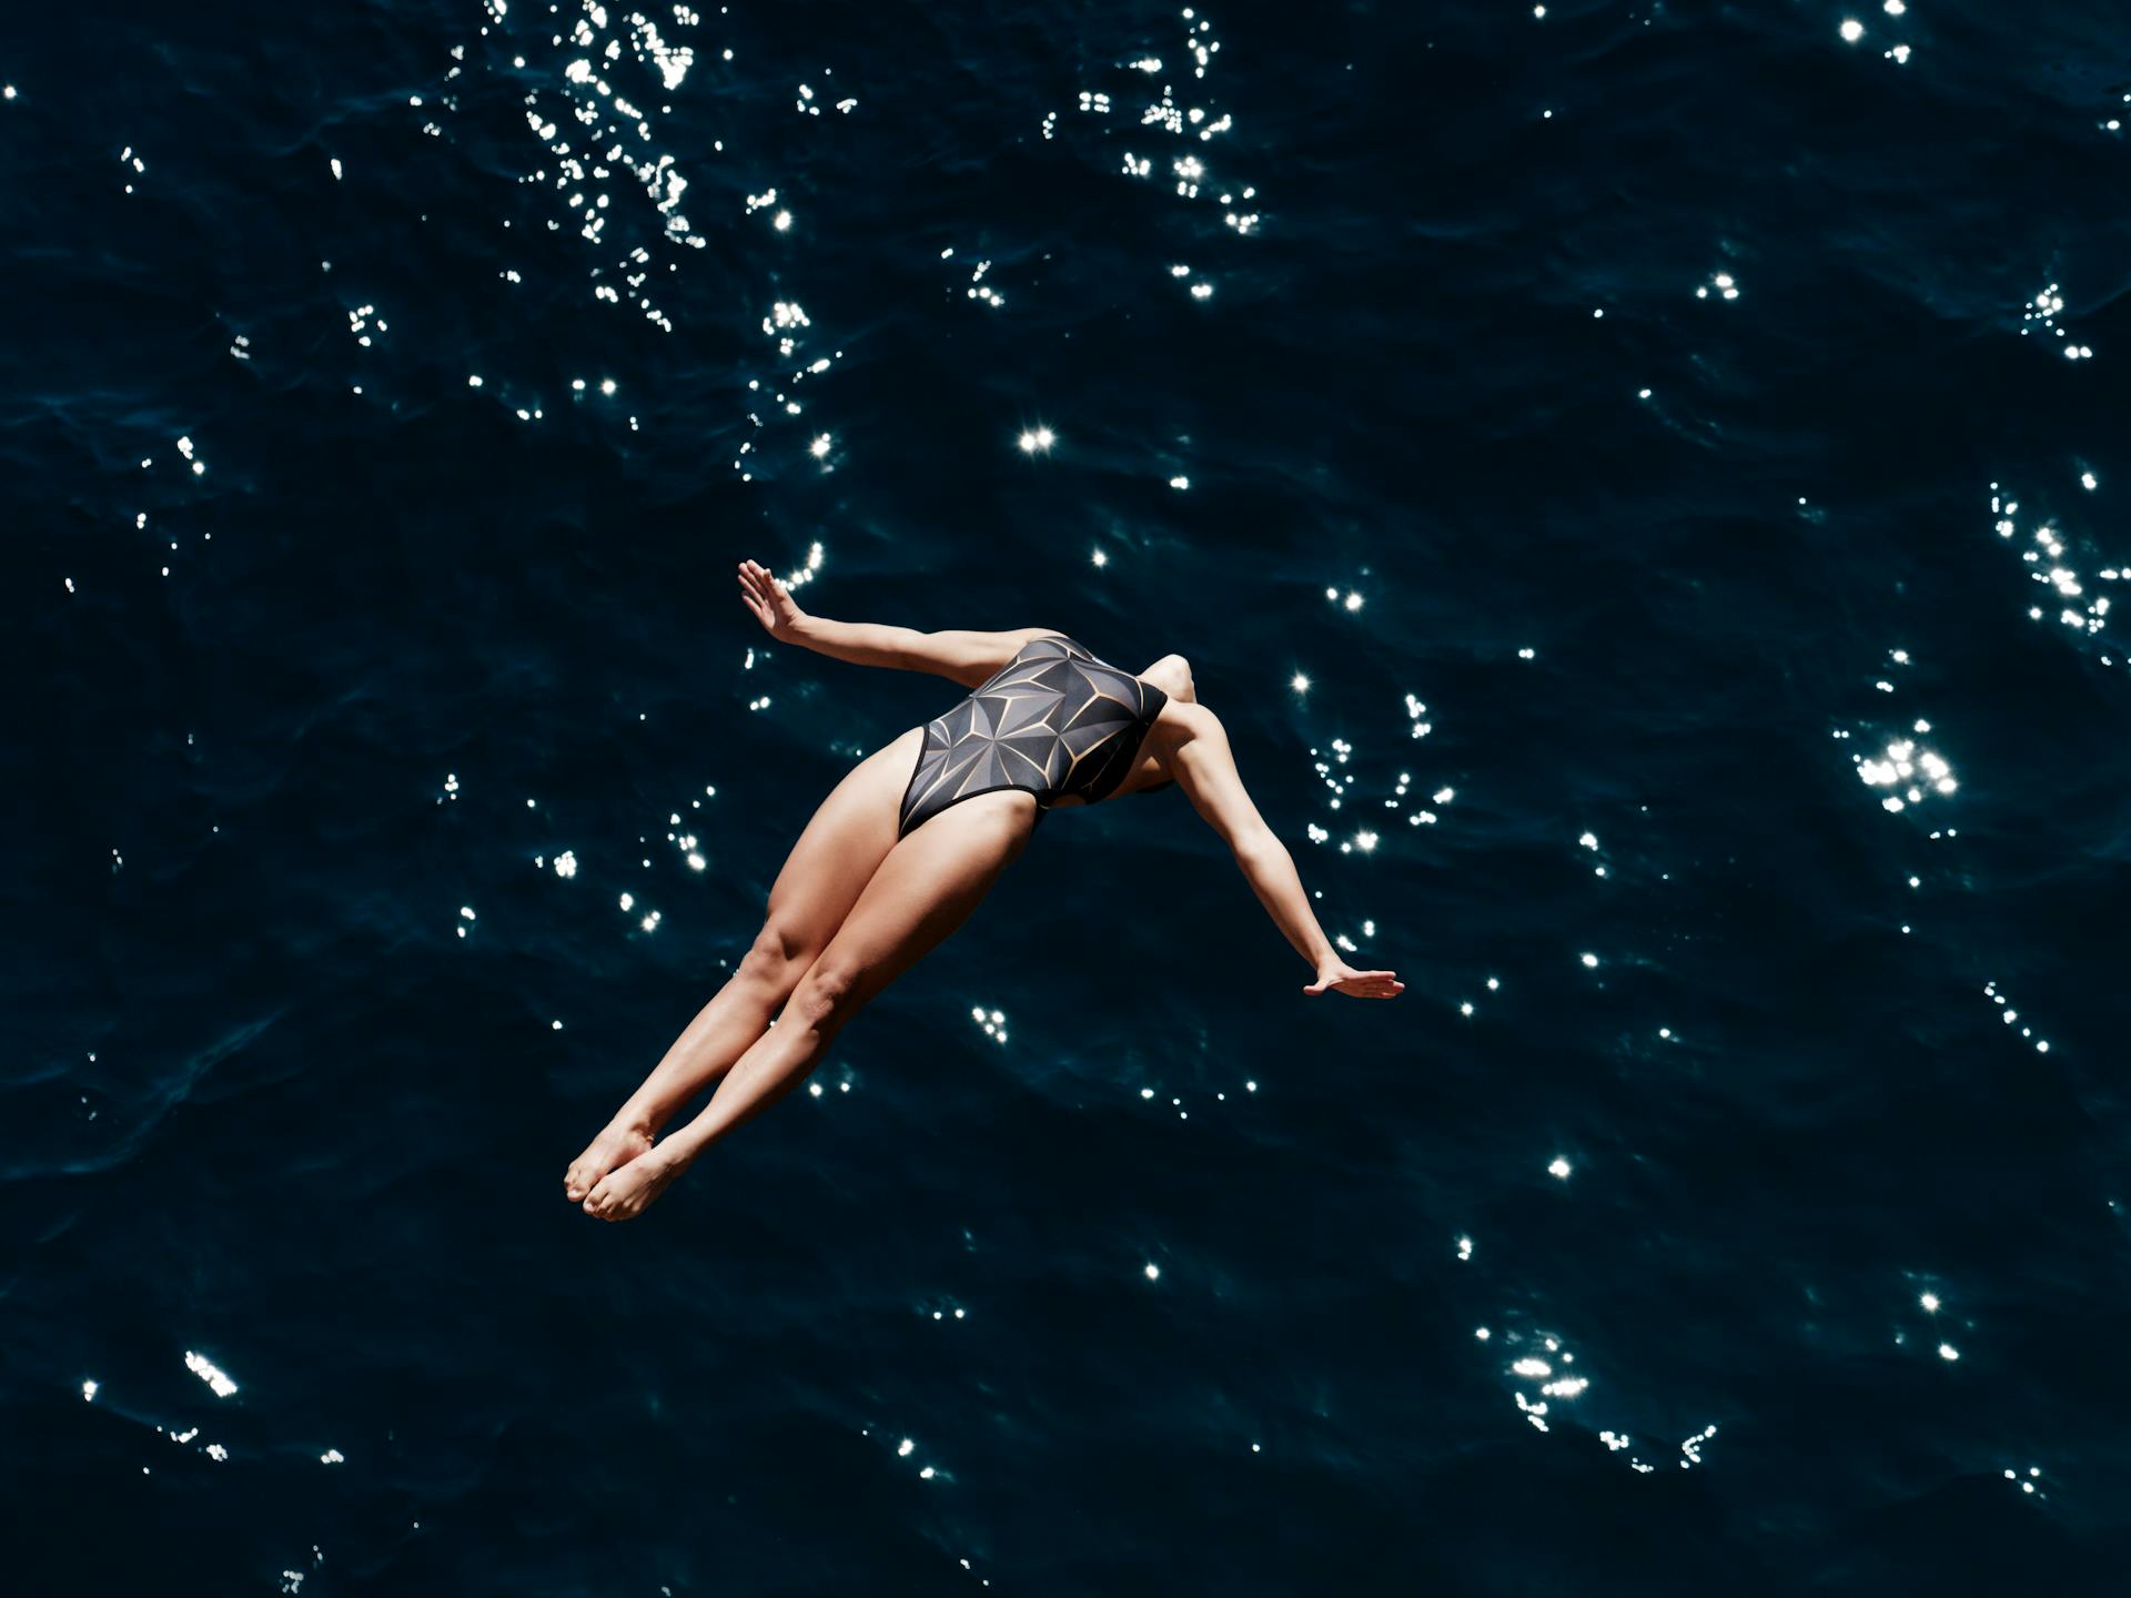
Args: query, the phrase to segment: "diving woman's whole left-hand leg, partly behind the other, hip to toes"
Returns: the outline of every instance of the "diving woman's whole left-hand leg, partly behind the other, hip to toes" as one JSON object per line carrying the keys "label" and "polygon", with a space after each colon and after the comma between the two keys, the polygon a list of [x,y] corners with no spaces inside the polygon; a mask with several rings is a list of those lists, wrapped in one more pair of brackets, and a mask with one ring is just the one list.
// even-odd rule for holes
{"label": "diving woman's whole left-hand leg, partly behind the other, hip to toes", "polygon": [[923,727],[874,750],[835,784],[769,888],[769,914],[716,997],[665,1059],[569,1163],[563,1193],[582,1200],[601,1176],[652,1146],[658,1127],[761,1038],[808,965],[829,946],[895,846],[895,814],[918,761]]}

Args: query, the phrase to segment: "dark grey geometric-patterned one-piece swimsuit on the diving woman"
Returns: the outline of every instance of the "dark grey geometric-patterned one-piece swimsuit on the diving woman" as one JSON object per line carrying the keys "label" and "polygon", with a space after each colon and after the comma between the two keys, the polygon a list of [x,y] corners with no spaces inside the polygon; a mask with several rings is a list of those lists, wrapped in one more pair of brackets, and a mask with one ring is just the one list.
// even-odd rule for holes
{"label": "dark grey geometric-patterned one-piece swimsuit on the diving woman", "polygon": [[1168,701],[1063,633],[1029,639],[955,710],[925,722],[895,835],[999,788],[1034,793],[1038,820],[1066,795],[1106,799],[1138,763]]}

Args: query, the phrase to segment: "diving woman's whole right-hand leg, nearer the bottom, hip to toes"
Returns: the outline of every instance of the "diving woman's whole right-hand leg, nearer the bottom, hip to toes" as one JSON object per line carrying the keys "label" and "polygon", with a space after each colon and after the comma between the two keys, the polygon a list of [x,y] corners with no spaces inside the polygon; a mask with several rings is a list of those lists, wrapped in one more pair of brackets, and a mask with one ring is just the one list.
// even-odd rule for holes
{"label": "diving woman's whole right-hand leg, nearer the bottom, hip to toes", "polygon": [[586,1212],[603,1221],[639,1214],[703,1148],[797,1087],[846,1021],[976,910],[1034,827],[1036,797],[999,790],[942,810],[889,850],[778,1025],[739,1057],[695,1121],[605,1176],[584,1200]]}

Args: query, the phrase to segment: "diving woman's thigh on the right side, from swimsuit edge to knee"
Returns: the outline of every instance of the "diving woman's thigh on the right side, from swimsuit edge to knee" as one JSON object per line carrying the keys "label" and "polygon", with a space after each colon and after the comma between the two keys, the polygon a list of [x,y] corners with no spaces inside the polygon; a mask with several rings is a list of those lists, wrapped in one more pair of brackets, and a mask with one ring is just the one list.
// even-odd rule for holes
{"label": "diving woman's thigh on the right side, from swimsuit edge to knee", "polygon": [[816,986],[846,1014],[865,1004],[976,910],[1034,829],[1036,797],[1010,788],[953,803],[912,829],[801,986]]}

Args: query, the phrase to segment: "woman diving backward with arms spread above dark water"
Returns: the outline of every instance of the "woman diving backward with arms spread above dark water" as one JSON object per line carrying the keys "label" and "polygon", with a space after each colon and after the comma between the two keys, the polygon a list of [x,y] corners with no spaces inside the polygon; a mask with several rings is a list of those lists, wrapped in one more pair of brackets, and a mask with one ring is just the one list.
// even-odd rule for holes
{"label": "woman diving backward with arms spread above dark water", "polygon": [[[795,1087],[867,999],[976,910],[1059,805],[1174,782],[1317,969],[1304,993],[1392,999],[1404,991],[1392,972],[1357,972],[1332,950],[1296,863],[1236,776],[1221,722],[1195,701],[1181,654],[1134,678],[1048,626],[916,633],[831,622],[801,612],[754,560],[739,562],[739,597],[780,643],[933,671],[972,692],[859,761],[814,812],[739,969],[565,1172],[563,1191],[586,1214],[641,1214],[707,1144]],[[718,1091],[703,1112],[652,1142],[710,1082]]]}

